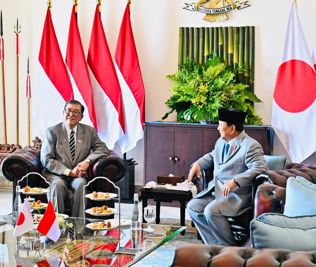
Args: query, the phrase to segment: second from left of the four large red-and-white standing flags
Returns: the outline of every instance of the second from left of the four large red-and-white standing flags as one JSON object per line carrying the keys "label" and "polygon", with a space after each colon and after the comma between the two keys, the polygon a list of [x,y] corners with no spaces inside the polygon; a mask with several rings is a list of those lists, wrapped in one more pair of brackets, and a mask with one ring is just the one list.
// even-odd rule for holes
{"label": "second from left of the four large red-and-white standing flags", "polygon": [[82,123],[93,126],[98,131],[92,88],[77,24],[75,5],[72,7],[70,18],[66,67],[74,90],[74,99],[79,101],[86,110]]}

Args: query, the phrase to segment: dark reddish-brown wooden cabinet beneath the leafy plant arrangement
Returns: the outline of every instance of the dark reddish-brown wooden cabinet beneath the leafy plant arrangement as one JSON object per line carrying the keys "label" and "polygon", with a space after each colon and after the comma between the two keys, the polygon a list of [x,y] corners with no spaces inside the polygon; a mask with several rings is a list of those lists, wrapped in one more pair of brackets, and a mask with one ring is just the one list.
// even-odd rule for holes
{"label": "dark reddish-brown wooden cabinet beneath the leafy plant arrangement", "polygon": [[[175,122],[146,122],[144,132],[144,180],[157,181],[158,175],[185,175],[191,164],[214,149],[220,137],[217,125]],[[271,153],[270,127],[245,126],[245,132]]]}

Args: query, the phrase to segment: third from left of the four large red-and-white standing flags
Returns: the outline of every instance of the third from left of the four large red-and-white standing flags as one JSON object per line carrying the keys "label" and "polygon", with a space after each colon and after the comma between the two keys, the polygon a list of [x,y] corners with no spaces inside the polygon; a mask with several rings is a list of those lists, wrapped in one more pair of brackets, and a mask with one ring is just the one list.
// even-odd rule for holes
{"label": "third from left of the four large red-and-white standing flags", "polygon": [[88,70],[92,85],[99,137],[109,149],[124,135],[122,94],[113,60],[107,45],[99,6],[96,6],[90,46]]}

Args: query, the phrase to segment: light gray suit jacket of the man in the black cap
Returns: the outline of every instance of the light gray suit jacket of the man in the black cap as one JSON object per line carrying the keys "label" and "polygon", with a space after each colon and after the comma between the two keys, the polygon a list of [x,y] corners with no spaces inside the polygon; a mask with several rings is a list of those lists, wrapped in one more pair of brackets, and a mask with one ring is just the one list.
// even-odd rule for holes
{"label": "light gray suit jacket of the man in the black cap", "polygon": [[[242,131],[229,147],[222,160],[225,140],[219,138],[212,152],[197,160],[201,171],[214,165],[214,179],[208,188],[197,194],[195,198],[210,193],[215,188],[216,202],[219,210],[225,216],[238,216],[251,205],[251,183],[255,176],[268,170],[263,157],[261,145]],[[235,150],[234,150],[235,146]],[[224,183],[234,178],[240,187],[234,188],[228,197],[222,195]]]}

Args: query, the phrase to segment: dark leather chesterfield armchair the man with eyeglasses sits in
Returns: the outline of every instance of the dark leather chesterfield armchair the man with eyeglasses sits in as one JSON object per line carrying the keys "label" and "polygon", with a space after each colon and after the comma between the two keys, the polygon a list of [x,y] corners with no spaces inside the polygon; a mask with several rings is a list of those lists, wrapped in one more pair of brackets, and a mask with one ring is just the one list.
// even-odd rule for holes
{"label": "dark leather chesterfield armchair the man with eyeglasses sits in", "polygon": [[[36,148],[28,148],[28,149],[20,149],[13,153],[11,153],[8,157],[6,157],[1,163],[1,174],[4,179],[12,182],[13,194],[12,199],[14,203],[15,199],[15,188],[17,185],[17,181],[21,180],[21,178],[30,172],[42,173],[43,167],[40,162],[40,149]],[[107,157],[100,157],[91,168],[91,179],[103,176],[109,178],[114,183],[121,181],[126,172],[126,165],[114,151],[110,150],[110,155]],[[29,175],[28,176],[28,185],[30,187],[43,187],[46,188],[48,185],[43,183],[43,180],[38,175]],[[98,179],[90,184],[91,187],[88,188],[89,191],[96,192],[110,192],[114,193],[114,188],[112,184],[106,182],[104,179]],[[26,186],[26,179],[20,182],[20,186]],[[43,202],[47,203],[46,195],[36,195],[36,197]],[[24,194],[21,194],[21,199],[25,198]],[[104,203],[100,204],[100,201],[94,203],[94,201],[90,202],[90,205],[108,205],[109,207],[114,207],[114,200],[104,201]],[[89,205],[88,204],[88,205]],[[70,205],[69,200],[65,199],[65,212],[70,214]]]}

